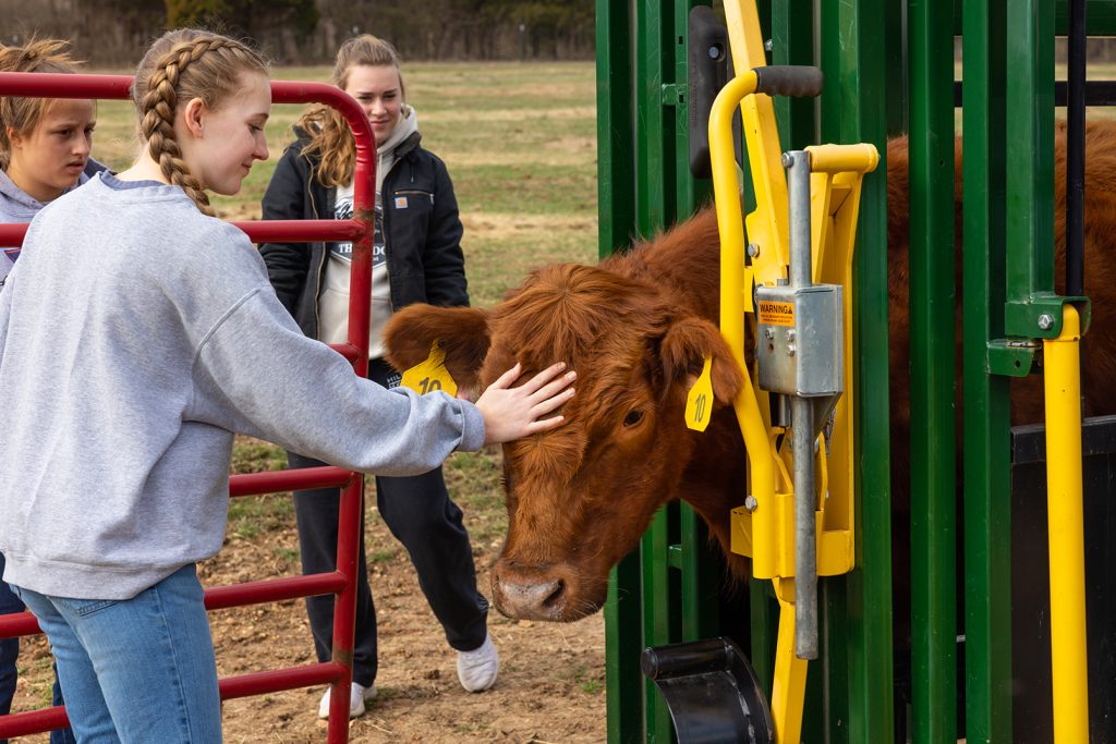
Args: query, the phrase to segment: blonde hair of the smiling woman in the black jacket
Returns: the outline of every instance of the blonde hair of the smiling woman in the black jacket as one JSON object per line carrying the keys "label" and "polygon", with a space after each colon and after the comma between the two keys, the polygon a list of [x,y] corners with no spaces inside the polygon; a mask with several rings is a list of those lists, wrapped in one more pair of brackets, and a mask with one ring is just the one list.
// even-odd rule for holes
{"label": "blonde hair of the smiling woman in the black jacket", "polygon": [[[349,70],[359,66],[394,67],[400,73],[400,95],[406,98],[403,73],[400,71],[400,55],[391,42],[371,33],[353,37],[337,50],[337,60],[329,80],[344,89]],[[353,129],[340,113],[329,106],[314,106],[298,119],[296,126],[302,128],[310,143],[302,155],[318,154],[321,162],[317,177],[326,186],[343,186],[353,180],[356,167],[356,142]]]}

